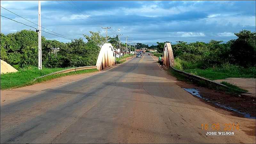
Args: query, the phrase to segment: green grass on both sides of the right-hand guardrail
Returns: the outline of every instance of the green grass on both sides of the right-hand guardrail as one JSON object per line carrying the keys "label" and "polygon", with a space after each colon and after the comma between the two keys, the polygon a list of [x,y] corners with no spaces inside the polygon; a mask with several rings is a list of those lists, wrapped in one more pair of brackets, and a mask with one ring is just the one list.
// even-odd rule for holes
{"label": "green grass on both sides of the right-hand guardrail", "polygon": [[[181,60],[179,58],[175,58],[175,68],[179,69],[184,72],[188,72],[194,75],[198,75],[201,77],[204,77],[209,80],[221,80],[226,78],[255,78],[256,76],[256,70],[255,67],[251,68],[243,68],[241,66],[233,65],[233,64],[222,64],[217,67],[213,68],[207,68],[207,69],[200,69],[201,64],[200,63],[191,63],[184,60]],[[175,76],[178,80],[187,81],[189,83],[196,83],[197,85],[201,87],[208,87],[215,90],[225,91],[227,94],[241,94],[239,91],[248,92],[247,90],[244,90],[240,87],[237,87],[236,85],[230,84],[228,82],[221,82],[223,85],[226,85],[232,89],[216,86],[210,82],[201,80],[191,80],[187,77],[181,75],[178,72],[175,72],[174,70],[170,70],[171,74]]]}

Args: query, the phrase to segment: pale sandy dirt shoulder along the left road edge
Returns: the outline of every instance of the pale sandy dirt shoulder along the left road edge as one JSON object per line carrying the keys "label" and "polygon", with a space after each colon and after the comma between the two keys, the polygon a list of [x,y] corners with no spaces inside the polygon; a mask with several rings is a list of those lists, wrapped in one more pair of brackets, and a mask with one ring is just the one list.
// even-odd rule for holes
{"label": "pale sandy dirt shoulder along the left road edge", "polygon": [[[125,58],[126,61],[132,59],[133,57],[127,57]],[[111,68],[114,68],[120,64],[116,64],[114,66],[110,66],[107,69],[104,69],[100,72],[104,72],[106,70],[109,70]],[[92,73],[84,73],[84,74],[77,74],[77,75],[70,75],[70,76],[64,76],[57,79],[49,80],[42,83],[37,83],[31,86],[26,87],[19,87],[14,89],[6,89],[1,90],[1,106],[10,104],[12,102],[20,101],[23,99],[26,99],[28,97],[32,97],[34,94],[40,93],[45,89],[53,88],[53,87],[60,87],[63,85],[66,85],[68,83],[81,80],[84,78],[87,78],[89,76],[95,75],[100,72],[92,72]]]}

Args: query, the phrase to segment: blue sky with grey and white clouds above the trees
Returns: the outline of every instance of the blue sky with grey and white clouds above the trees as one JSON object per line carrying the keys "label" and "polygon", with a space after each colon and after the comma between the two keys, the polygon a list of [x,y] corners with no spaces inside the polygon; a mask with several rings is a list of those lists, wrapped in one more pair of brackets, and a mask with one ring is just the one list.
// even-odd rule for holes
{"label": "blue sky with grey and white clouds above the trees", "polygon": [[[15,14],[38,24],[38,1],[2,1],[1,15],[36,27]],[[242,29],[255,32],[256,1],[41,1],[41,25],[72,39],[84,38],[89,31],[111,27],[108,35],[121,35],[125,43],[176,41],[228,42]],[[35,30],[1,17],[1,33]],[[120,29],[120,31],[118,31]],[[42,28],[42,30],[52,33]],[[53,33],[54,34],[54,33]],[[49,40],[71,40],[42,32]],[[85,40],[86,41],[86,40]]]}

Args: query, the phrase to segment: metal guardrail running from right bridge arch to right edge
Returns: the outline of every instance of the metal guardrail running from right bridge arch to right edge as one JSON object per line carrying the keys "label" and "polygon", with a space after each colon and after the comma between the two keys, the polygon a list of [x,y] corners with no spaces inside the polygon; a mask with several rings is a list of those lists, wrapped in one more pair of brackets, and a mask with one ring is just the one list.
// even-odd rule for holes
{"label": "metal guardrail running from right bridge arch to right edge", "polygon": [[234,91],[237,91],[237,92],[240,92],[242,94],[246,93],[246,94],[250,94],[250,95],[254,95],[252,93],[248,93],[248,92],[244,92],[244,91],[240,91],[240,90],[237,90],[237,89],[233,89],[231,87],[228,87],[226,85],[223,85],[221,83],[218,83],[218,82],[215,82],[215,81],[212,81],[212,80],[209,80],[209,79],[205,79],[203,77],[200,77],[200,76],[197,76],[197,75],[194,75],[194,74],[191,74],[191,73],[188,73],[188,72],[183,72],[183,71],[180,71],[180,70],[177,70],[175,69],[174,67],[170,66],[175,72],[178,72],[180,73],[181,75],[189,78],[189,79],[193,79],[193,80],[196,80],[196,81],[201,81],[201,80],[204,80],[205,82],[208,82],[208,83],[211,83],[215,86],[220,86],[220,87],[224,87],[224,88],[228,88],[228,89],[232,89]]}

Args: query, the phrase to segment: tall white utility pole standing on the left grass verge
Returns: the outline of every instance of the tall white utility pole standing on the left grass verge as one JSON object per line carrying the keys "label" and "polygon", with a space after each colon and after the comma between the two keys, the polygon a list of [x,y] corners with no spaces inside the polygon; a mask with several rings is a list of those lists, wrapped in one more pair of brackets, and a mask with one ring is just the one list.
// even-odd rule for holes
{"label": "tall white utility pole standing on the left grass verge", "polygon": [[38,1],[38,69],[42,70],[41,2]]}

